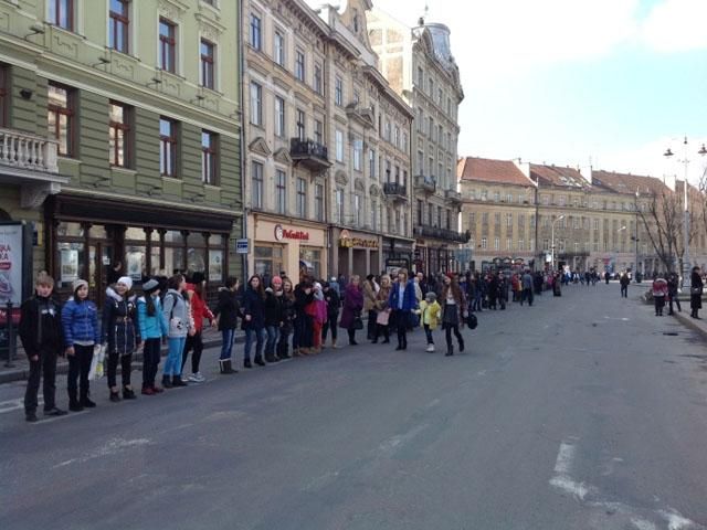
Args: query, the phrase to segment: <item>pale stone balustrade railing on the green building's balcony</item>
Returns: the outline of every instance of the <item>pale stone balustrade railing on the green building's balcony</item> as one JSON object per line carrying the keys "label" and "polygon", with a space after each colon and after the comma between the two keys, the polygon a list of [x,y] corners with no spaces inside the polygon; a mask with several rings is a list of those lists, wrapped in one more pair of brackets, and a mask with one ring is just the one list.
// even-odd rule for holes
{"label": "pale stone balustrade railing on the green building's balcony", "polygon": [[57,144],[54,140],[22,132],[0,129],[0,165],[19,169],[59,173]]}

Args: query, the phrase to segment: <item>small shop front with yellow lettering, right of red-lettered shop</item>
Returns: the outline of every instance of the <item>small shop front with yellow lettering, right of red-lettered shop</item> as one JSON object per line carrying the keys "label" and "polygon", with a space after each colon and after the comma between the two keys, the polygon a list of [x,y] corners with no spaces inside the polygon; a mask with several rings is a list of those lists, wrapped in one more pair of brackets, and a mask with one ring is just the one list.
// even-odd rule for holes
{"label": "small shop front with yellow lettering, right of red-lettered shop", "polygon": [[374,233],[333,229],[331,275],[366,277],[381,271],[381,237]]}

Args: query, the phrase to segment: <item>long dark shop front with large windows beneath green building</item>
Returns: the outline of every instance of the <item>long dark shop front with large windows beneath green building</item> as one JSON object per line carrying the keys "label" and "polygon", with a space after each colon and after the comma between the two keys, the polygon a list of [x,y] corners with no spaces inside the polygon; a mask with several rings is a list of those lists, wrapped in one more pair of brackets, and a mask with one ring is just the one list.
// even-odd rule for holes
{"label": "long dark shop front with large windows beneath green building", "polygon": [[99,303],[124,275],[139,286],[154,275],[200,272],[212,290],[235,273],[228,252],[234,221],[203,210],[60,194],[45,210],[48,269],[60,294],[85,278]]}

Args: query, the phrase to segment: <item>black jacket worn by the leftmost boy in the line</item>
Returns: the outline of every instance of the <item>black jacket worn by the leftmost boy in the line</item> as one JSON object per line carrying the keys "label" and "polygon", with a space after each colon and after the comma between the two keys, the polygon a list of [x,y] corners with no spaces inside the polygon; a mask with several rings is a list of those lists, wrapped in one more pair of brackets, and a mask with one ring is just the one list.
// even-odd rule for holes
{"label": "black jacket worn by the leftmost boy in the line", "polygon": [[61,307],[54,298],[41,296],[22,304],[18,332],[27,357],[42,351],[61,354],[64,344]]}

